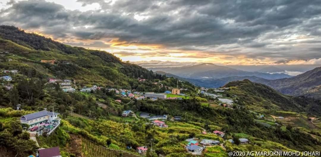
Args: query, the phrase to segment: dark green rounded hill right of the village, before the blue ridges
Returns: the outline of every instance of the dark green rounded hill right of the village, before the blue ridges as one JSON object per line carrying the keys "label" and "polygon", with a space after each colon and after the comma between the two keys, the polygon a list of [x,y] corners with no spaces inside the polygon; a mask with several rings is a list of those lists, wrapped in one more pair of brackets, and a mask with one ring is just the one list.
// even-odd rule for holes
{"label": "dark green rounded hill right of the village, before the blue ridges", "polygon": [[[229,93],[238,97],[239,105],[247,104],[256,110],[292,110],[307,112],[312,115],[321,115],[321,101],[306,97],[293,97],[261,83],[253,83],[247,79],[233,81],[224,87],[230,88]],[[254,105],[255,104],[255,105]]]}

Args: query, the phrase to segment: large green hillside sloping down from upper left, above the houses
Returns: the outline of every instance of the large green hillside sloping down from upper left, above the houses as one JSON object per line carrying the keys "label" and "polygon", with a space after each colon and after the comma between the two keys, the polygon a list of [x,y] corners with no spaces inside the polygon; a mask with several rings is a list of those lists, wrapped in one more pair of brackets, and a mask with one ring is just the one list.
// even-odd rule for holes
{"label": "large green hillside sloping down from upper left, above the houses", "polygon": [[[73,78],[83,84],[117,84],[127,88],[135,86],[137,81],[133,79],[138,77],[156,78],[152,71],[122,62],[105,51],[71,47],[35,33],[26,33],[15,26],[0,26],[0,52],[13,54],[2,56],[2,62],[13,59],[10,67],[33,76]],[[50,61],[54,63],[50,64]],[[0,68],[9,66],[2,64]]]}

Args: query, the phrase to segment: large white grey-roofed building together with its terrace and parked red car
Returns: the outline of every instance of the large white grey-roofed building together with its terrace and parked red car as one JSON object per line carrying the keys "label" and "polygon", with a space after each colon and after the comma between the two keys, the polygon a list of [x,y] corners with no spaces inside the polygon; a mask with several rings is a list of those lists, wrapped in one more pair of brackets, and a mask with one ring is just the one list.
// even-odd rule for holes
{"label": "large white grey-roofed building together with its terrace and parked red car", "polygon": [[30,132],[36,132],[40,135],[50,135],[59,125],[61,118],[57,117],[59,113],[43,111],[23,115],[20,118],[22,124],[28,124]]}

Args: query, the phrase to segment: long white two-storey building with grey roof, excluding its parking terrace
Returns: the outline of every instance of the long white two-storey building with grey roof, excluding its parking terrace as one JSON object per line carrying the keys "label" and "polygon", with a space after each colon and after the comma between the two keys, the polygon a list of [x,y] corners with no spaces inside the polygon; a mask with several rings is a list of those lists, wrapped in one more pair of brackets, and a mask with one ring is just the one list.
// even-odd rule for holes
{"label": "long white two-storey building with grey roof, excluding its parking terrace", "polygon": [[54,122],[56,122],[59,125],[61,119],[58,118],[57,115],[60,114],[56,112],[49,112],[47,110],[43,110],[22,116],[20,118],[20,122],[23,124],[28,124],[29,128],[32,128],[34,126],[39,127]]}

